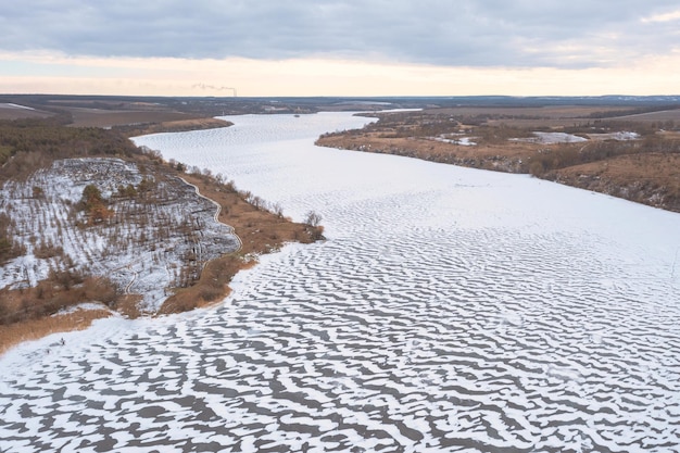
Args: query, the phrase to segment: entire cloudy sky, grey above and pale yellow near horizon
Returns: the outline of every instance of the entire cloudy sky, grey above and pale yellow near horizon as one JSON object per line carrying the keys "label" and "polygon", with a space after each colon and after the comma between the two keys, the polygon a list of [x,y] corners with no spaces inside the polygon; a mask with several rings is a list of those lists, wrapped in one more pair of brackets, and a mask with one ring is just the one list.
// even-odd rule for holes
{"label": "entire cloudy sky, grey above and pale yellow near horizon", "polygon": [[23,0],[0,92],[680,93],[677,0]]}

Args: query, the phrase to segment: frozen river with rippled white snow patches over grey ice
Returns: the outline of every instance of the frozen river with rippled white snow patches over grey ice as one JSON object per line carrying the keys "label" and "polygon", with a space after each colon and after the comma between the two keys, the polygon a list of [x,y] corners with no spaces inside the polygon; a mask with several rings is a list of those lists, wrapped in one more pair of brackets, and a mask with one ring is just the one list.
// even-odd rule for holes
{"label": "frozen river with rippled white snow patches over grey ice", "polygon": [[314,147],[347,113],[228,119],[136,141],[328,240],[218,307],[10,351],[0,451],[680,451],[679,214]]}

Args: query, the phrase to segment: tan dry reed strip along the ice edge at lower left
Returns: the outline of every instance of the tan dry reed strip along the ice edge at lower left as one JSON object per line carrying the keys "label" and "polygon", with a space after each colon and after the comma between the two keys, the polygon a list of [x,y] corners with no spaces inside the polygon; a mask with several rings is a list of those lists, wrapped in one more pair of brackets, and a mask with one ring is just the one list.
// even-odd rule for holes
{"label": "tan dry reed strip along the ice edge at lower left", "polygon": [[0,326],[0,354],[23,341],[37,340],[48,335],[88,328],[95,319],[111,316],[109,310],[76,310],[73,313],[30,319]]}

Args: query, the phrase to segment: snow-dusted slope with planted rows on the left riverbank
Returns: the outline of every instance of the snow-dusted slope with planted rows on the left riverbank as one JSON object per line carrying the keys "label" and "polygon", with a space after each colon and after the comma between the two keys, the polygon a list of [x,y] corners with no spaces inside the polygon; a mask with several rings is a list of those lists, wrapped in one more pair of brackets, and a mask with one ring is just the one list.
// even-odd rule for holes
{"label": "snow-dusted slope with planted rows on the left riverbank", "polygon": [[[179,286],[188,252],[200,266],[238,249],[232,229],[215,221],[216,206],[192,186],[155,181],[149,185],[154,202],[116,199],[118,187],[138,187],[144,177],[137,165],[118,159],[68,159],[26,181],[7,183],[0,209],[26,253],[0,266],[0,288],[35,286],[52,270],[74,270],[111,278],[121,290],[141,294],[140,307],[154,312],[168,288]],[[112,222],[85,226],[76,205],[89,184],[111,201]]]}

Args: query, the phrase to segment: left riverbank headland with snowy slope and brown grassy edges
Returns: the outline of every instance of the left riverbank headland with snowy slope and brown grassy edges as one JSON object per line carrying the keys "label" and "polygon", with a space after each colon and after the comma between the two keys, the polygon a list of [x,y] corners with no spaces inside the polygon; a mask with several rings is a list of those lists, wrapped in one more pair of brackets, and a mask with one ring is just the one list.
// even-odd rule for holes
{"label": "left riverbank headland with snowy slope and brown grassy edges", "polygon": [[[135,318],[213,304],[229,293],[234,275],[261,254],[323,237],[320,226],[291,222],[279,206],[239,191],[232,181],[197,168],[186,173],[155,152],[128,151],[58,160],[26,172],[25,179],[3,181],[2,190],[12,191],[2,196],[3,206],[15,222],[0,231],[14,250],[3,255],[0,353],[114,314]],[[50,176],[56,164],[63,188]],[[78,211],[84,181],[102,193],[98,211]],[[212,200],[206,205],[204,197]],[[210,226],[217,221],[225,232]],[[225,234],[235,236],[238,247],[225,243]],[[219,252],[225,246],[229,249]],[[24,262],[35,263],[28,274]]]}

